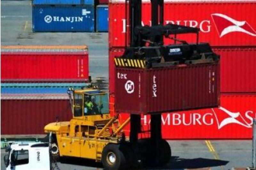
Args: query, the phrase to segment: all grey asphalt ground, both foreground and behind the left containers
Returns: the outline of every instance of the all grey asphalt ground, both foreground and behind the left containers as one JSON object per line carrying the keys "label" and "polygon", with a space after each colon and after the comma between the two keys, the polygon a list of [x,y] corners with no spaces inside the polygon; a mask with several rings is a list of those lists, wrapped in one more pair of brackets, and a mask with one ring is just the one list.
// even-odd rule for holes
{"label": "all grey asphalt ground, both foreground and behind the left containers", "polygon": [[[31,1],[1,1],[1,45],[87,45],[90,75],[99,85],[108,86],[108,33],[33,33]],[[207,129],[205,129],[207,130]],[[156,169],[194,169],[210,167],[228,170],[252,164],[250,140],[174,140],[168,141],[172,159]],[[4,169],[1,149],[1,169]],[[102,169],[87,159],[66,159],[60,169]]]}

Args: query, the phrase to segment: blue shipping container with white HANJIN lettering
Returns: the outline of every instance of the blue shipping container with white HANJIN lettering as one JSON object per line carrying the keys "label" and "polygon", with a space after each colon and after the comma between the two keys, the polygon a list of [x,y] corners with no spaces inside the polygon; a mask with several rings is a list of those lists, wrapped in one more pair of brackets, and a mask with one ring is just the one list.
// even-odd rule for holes
{"label": "blue shipping container with white HANJIN lettering", "polygon": [[33,32],[94,32],[94,6],[33,6]]}

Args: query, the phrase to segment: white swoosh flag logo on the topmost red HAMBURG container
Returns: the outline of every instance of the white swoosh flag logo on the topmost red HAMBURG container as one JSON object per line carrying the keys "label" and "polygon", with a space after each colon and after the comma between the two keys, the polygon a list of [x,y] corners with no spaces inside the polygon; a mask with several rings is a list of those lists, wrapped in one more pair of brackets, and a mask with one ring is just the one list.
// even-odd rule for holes
{"label": "white swoosh flag logo on the topmost red HAMBURG container", "polygon": [[[227,15],[224,15],[224,14],[219,14],[219,13],[215,13],[215,14],[212,14],[212,16],[215,15],[215,16],[218,16],[218,17],[221,17],[221,18],[224,18],[226,20],[228,20],[229,22],[233,23],[234,26],[228,26],[227,28],[223,29],[222,32],[220,33],[220,37],[228,34],[228,33],[231,33],[231,32],[242,32],[242,33],[247,33],[249,35],[252,35],[252,36],[256,36],[256,34],[254,33],[251,33],[247,30],[245,30],[244,28],[241,28],[240,26],[244,26],[247,22],[246,21],[236,21],[235,19],[233,18],[230,18],[228,17]],[[214,19],[213,19],[214,21]],[[215,23],[216,24],[216,23]],[[250,26],[248,23],[247,23],[248,26]],[[250,26],[251,27],[251,26]],[[251,27],[251,29],[253,30],[253,28]],[[254,30],[253,30],[254,31]],[[254,31],[255,32],[255,31]]]}

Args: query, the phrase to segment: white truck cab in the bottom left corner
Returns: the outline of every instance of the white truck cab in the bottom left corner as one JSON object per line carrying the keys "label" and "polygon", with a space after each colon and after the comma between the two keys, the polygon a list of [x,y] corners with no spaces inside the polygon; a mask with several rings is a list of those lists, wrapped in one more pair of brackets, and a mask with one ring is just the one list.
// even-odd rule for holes
{"label": "white truck cab in the bottom left corner", "polygon": [[6,170],[34,170],[51,168],[49,143],[14,143],[4,156]]}

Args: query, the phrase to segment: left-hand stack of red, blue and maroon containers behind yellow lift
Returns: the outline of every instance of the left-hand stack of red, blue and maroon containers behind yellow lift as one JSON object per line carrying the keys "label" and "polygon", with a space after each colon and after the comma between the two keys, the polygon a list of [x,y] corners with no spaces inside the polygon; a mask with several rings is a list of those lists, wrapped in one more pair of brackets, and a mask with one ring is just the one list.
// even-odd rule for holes
{"label": "left-hand stack of red, blue and maroon containers behind yellow lift", "polygon": [[56,117],[69,121],[68,95],[60,89],[86,86],[88,62],[86,46],[2,46],[1,86],[9,93],[1,94],[1,134],[44,134]]}

